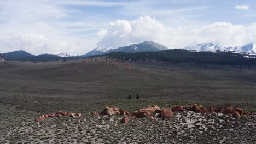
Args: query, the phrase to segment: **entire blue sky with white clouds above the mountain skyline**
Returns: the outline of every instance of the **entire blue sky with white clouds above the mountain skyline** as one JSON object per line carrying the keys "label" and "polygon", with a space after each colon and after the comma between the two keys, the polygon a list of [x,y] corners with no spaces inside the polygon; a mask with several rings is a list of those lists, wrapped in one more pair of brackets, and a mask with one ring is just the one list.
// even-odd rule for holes
{"label": "entire blue sky with white clouds above the mountain skyline", "polygon": [[97,46],[152,40],[183,48],[199,43],[256,43],[251,0],[0,0],[0,53],[83,55]]}

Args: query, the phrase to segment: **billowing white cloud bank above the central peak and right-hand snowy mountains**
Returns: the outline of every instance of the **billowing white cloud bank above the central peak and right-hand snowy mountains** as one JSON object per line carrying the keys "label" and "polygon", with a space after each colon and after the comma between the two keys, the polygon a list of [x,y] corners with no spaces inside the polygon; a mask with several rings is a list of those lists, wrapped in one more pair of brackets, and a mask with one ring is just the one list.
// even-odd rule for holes
{"label": "billowing white cloud bank above the central peak and right-hand snowy mountains", "polygon": [[167,27],[144,16],[137,20],[117,20],[110,22],[106,35],[98,42],[102,47],[120,47],[152,40],[167,47],[183,48],[198,43],[215,42],[224,45],[244,45],[256,43],[253,30],[256,24],[245,27],[229,22],[216,22],[210,25],[188,28]]}

